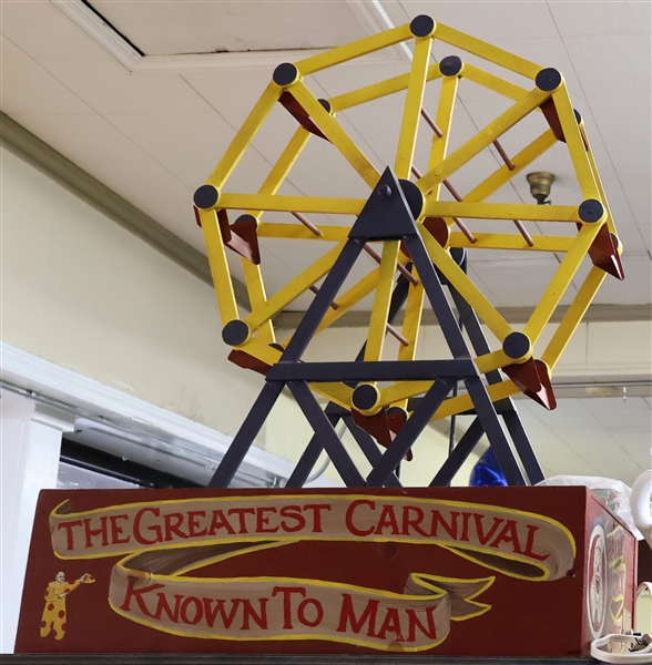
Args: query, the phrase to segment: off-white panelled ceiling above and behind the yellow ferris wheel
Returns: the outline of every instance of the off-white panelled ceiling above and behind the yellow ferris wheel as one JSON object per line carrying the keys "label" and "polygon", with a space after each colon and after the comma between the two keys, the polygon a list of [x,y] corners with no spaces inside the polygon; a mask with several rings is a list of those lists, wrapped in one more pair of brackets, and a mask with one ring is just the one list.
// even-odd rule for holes
{"label": "off-white panelled ceiling above and behind the yellow ferris wheel", "polygon": [[[71,8],[79,4],[79,0],[1,1],[0,108],[201,252],[204,242],[194,222],[192,194],[222,156],[275,65],[300,59],[304,52],[299,50],[337,45],[376,32],[387,21],[398,25],[428,13],[438,22],[542,66],[558,68],[574,108],[584,117],[624,245],[626,279],[620,283],[608,277],[595,301],[652,301],[650,2],[91,1],[144,53],[140,57],[129,44],[122,44],[126,55],[120,59],[105,48],[106,30],[102,42],[70,18]],[[77,9],[83,14],[83,7]],[[441,42],[434,49],[437,60],[455,53],[456,49]],[[408,68],[405,52],[395,48],[361,63],[319,72],[308,84],[317,96],[328,98]],[[488,63],[483,68],[498,71]],[[524,84],[516,74],[500,73]],[[427,108],[436,109],[437,88],[436,83],[427,91]],[[401,101],[400,94],[394,95],[338,114],[379,170],[394,163]],[[503,99],[462,81],[451,149],[505,109]],[[528,119],[506,134],[501,142],[507,152],[513,154],[529,143],[538,135],[533,132],[542,129],[532,125],[541,122],[541,117]],[[293,119],[283,109],[275,109],[228,181],[228,190],[255,191],[294,127]],[[366,197],[366,185],[333,160],[329,147],[326,142],[312,141],[283,192]],[[416,160],[425,170],[422,151],[417,152]],[[498,164],[497,154],[488,150],[451,180],[463,193]],[[556,145],[530,170],[557,175],[551,196],[554,203],[581,201],[564,145]],[[532,201],[524,174],[498,196],[502,202]],[[546,225],[539,226],[536,233],[549,233]],[[263,270],[269,291],[329,247],[327,243],[303,243],[297,252],[279,241],[265,242]],[[368,257],[360,260],[366,263],[356,275],[373,267]],[[498,307],[533,306],[558,265],[554,255],[479,252],[476,256],[471,253],[470,275]],[[233,266],[242,275],[237,262]],[[584,272],[580,270],[581,275]],[[309,300],[304,296],[295,306],[304,307]],[[584,400],[592,402],[585,405],[589,411],[582,415],[585,436],[600,431],[610,436],[608,423],[600,420],[607,413],[607,402],[602,401]],[[644,468],[649,451],[640,442],[645,428],[649,438],[650,401],[636,398],[635,405],[641,412],[636,416],[638,434],[632,437],[639,437],[636,464]],[[562,432],[563,409],[553,413],[539,413],[538,409],[534,405],[521,408],[527,424],[547,428],[548,441],[568,440],[568,433]],[[538,424],[539,419],[544,422]],[[564,450],[568,457],[566,444]],[[550,459],[557,457],[554,453]],[[585,472],[598,469],[597,462],[592,466],[592,460],[585,461]]]}

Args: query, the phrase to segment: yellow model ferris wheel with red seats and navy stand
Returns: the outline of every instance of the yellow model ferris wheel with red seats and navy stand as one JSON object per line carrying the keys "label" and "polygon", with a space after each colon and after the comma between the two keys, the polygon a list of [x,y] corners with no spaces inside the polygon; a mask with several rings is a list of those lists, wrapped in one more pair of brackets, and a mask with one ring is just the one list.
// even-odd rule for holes
{"label": "yellow model ferris wheel with red seats and navy stand", "polygon": [[[488,69],[498,65],[519,74],[524,83],[512,83],[458,55],[435,62],[435,41],[469,53],[473,62],[490,63]],[[401,42],[412,47],[411,64],[405,73],[327,100],[310,91],[315,73]],[[509,108],[450,151],[457,94],[467,81],[502,95]],[[438,102],[427,109],[425,92],[432,85],[438,86]],[[354,106],[364,111],[365,104],[393,94],[405,98],[403,121],[394,162],[378,168],[338,122],[338,114]],[[278,104],[296,120],[294,135],[257,192],[232,191],[233,170]],[[500,137],[530,114],[544,119],[544,131],[520,152],[508,155]],[[417,164],[417,145],[425,136],[427,163]],[[366,197],[281,194],[309,141],[329,143],[328,149],[339,153],[364,183]],[[577,175],[577,202],[496,201],[506,184],[524,177],[524,170],[559,143],[566,144]],[[501,164],[469,191],[458,192],[456,173],[491,147]],[[452,201],[444,200],[445,192]],[[233,348],[230,358],[265,376],[264,388],[217,469],[213,487],[228,485],[284,387],[289,388],[315,431],[288,487],[305,482],[324,450],[349,487],[398,485],[396,470],[428,422],[458,413],[471,413],[475,420],[444,467],[434,470],[431,484],[448,483],[483,434],[510,484],[543,478],[511,397],[523,392],[542,407],[554,408],[550,377],[556,364],[602,280],[608,274],[623,278],[621,247],[584,124],[559,71],[426,16],[294,64],[279,64],[206,184],[196,191],[194,204],[205,236],[223,339]],[[277,221],[275,216],[282,213],[292,214],[292,222]],[[327,215],[336,222],[316,224],[310,215]],[[495,231],[495,221],[503,222],[500,233]],[[542,225],[546,233],[538,231]],[[560,229],[558,235],[556,229]],[[288,247],[293,243],[299,253],[305,243],[330,248],[269,293],[262,269],[266,238],[281,238]],[[472,264],[479,249],[509,250],[526,258],[529,253],[554,253],[560,258],[522,330],[505,319],[467,273],[467,262]],[[242,260],[251,303],[246,316],[238,311],[227,252]],[[377,265],[352,285],[352,269],[363,253]],[[544,328],[562,297],[572,295],[571,284],[584,262],[590,269],[554,334],[544,341]],[[287,339],[278,339],[274,317],[310,291],[314,299],[296,330]],[[355,361],[302,361],[315,335],[367,297],[373,298],[370,323]],[[417,359],[422,315],[428,308],[446,339],[446,358]],[[395,323],[400,316],[399,328]],[[485,330],[497,344],[489,341]],[[395,359],[384,354],[388,334],[399,342]],[[459,393],[458,386],[462,387]],[[326,409],[316,395],[328,400]],[[371,464],[366,478],[335,432],[340,420]]]}

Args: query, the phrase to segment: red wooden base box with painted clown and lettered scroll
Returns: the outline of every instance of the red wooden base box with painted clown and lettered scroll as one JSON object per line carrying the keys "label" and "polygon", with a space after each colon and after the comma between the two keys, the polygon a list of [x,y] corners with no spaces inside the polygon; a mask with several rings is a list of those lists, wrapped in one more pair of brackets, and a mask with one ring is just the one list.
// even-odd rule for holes
{"label": "red wooden base box with painted clown and lettered scroll", "polygon": [[44,491],[16,651],[580,656],[635,557],[584,488]]}

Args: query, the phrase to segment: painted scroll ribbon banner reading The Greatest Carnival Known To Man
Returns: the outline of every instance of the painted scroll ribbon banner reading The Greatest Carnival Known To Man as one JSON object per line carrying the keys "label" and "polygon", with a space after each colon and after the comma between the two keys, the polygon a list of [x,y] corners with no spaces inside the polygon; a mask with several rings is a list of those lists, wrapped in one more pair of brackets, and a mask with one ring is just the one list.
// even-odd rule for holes
{"label": "painted scroll ribbon banner reading The Greatest Carnival Known To Man", "polygon": [[328,640],[383,651],[432,648],[450,621],[483,614],[495,577],[412,573],[404,593],[298,577],[193,577],[192,571],[299,541],[397,542],[446,548],[530,581],[571,569],[570,531],[546,515],[406,497],[241,495],[130,503],[50,515],[61,559],[123,555],[111,607],[152,628],[213,640]]}

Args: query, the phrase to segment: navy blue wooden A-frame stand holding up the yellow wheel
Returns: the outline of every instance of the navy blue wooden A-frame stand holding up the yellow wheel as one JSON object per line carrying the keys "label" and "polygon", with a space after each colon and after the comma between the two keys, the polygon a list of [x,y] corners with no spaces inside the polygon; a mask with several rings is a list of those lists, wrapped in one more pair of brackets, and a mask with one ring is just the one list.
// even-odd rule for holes
{"label": "navy blue wooden A-frame stand holding up the yellow wheel", "polygon": [[[287,348],[279,361],[267,374],[265,387],[220,463],[208,487],[228,487],[254,438],[285,387],[293,393],[315,432],[286,487],[302,487],[324,450],[347,487],[400,487],[398,470],[401,460],[458,381],[463,381],[471,397],[476,419],[452,450],[449,459],[435,475],[431,487],[448,484],[485,433],[495,450],[509,484],[523,485],[528,481],[533,483],[543,478],[511,399],[501,400],[498,405],[498,412],[502,416],[505,424],[512,437],[513,449],[498,418],[497,406],[489,398],[485,382],[478,372],[462,335],[461,326],[463,325],[467,329],[475,355],[488,352],[489,346],[472,308],[455,288],[446,284],[446,279],[438,274],[432,265],[415,223],[415,218],[420,214],[421,205],[422,198],[416,186],[408,181],[398,181],[394,172],[389,167],[386,168],[354,224],[349,238],[333,268],[297,326]],[[306,347],[317,331],[365,244],[386,239],[403,241],[405,243],[449,346],[452,360],[365,362],[363,361],[363,347],[354,362],[302,362],[300,358]],[[463,256],[461,258],[466,259]],[[449,288],[452,300],[460,314],[461,324],[455,317],[442,284]],[[404,276],[398,278],[393,294],[388,323],[394,320],[403,307],[409,286]],[[489,383],[501,380],[498,370],[488,372],[486,378]],[[354,422],[350,411],[333,402],[322,409],[308,386],[310,381],[345,382],[355,388],[360,381],[385,380],[432,380],[434,382],[422,398],[410,400],[411,403],[417,405],[416,408],[384,452],[378,448],[374,438]],[[340,420],[345,422],[371,464],[371,471],[366,479],[356,468],[335,431],[335,427]],[[519,454],[520,463],[515,456],[515,449]]]}

